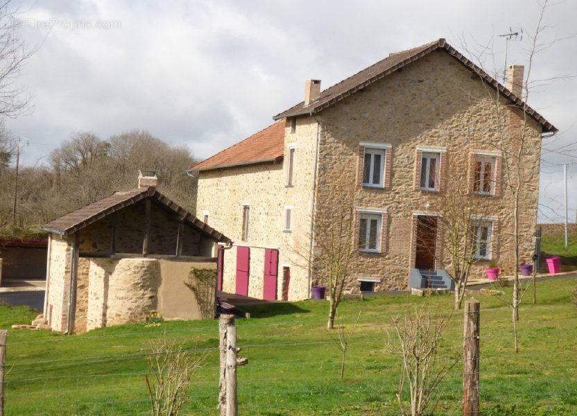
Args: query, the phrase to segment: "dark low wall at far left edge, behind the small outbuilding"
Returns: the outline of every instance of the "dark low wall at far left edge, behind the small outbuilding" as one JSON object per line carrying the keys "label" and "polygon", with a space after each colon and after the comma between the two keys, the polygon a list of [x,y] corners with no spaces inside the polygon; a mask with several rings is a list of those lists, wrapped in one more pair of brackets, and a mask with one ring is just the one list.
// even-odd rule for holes
{"label": "dark low wall at far left edge, behind the small outbuilding", "polygon": [[11,247],[0,249],[2,278],[21,280],[46,279],[46,248]]}

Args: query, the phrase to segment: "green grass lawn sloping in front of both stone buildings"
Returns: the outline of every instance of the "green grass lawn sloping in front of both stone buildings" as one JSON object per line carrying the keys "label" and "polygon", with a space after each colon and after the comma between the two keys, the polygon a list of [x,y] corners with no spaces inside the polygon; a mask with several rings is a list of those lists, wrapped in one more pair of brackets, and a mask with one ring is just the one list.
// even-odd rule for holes
{"label": "green grass lawn sloping in front of both stone buildings", "polygon": [[[538,304],[526,297],[519,322],[519,354],[513,354],[510,310],[495,297],[481,300],[481,405],[484,415],[577,414],[576,279],[543,281]],[[452,296],[372,297],[341,304],[345,322],[362,311],[352,338],[345,379],[340,352],[325,329],[327,302],[253,307],[237,320],[241,415],[395,415],[399,358],[384,347],[390,318],[421,302],[448,311]],[[31,320],[24,308],[0,306],[0,326]],[[166,336],[208,352],[183,415],[216,415],[218,329],[215,320],[130,324],[63,336],[8,331],[6,415],[144,415],[145,357],[150,340]],[[463,343],[462,312],[451,320],[447,349]],[[438,415],[460,415],[459,363],[440,387]]]}

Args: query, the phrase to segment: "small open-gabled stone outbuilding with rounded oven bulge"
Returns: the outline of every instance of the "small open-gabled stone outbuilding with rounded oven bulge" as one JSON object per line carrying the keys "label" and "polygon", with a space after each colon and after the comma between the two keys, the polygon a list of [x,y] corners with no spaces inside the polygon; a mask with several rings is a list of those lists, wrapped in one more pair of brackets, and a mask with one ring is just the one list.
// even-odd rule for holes
{"label": "small open-gabled stone outbuilding with rounded oven bulge", "polygon": [[153,311],[168,319],[214,316],[216,279],[198,293],[190,288],[189,272],[215,270],[216,243],[230,239],[156,184],[155,175],[140,175],[138,189],[115,192],[42,226],[50,234],[43,322],[37,323],[81,333],[143,322]]}

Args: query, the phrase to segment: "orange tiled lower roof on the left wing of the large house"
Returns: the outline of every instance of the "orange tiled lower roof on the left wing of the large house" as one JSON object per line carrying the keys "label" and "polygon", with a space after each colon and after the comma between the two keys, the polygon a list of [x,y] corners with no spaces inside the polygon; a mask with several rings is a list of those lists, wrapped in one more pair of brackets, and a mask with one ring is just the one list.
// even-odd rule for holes
{"label": "orange tiled lower roof on the left wing of the large house", "polygon": [[193,166],[191,171],[208,171],[245,164],[277,162],[284,155],[284,122],[282,119],[254,135]]}

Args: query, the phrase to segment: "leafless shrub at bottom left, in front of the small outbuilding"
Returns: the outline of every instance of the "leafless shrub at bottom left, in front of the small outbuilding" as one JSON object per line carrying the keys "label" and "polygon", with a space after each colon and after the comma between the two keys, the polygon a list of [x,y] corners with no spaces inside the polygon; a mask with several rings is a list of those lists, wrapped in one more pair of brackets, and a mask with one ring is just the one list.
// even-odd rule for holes
{"label": "leafless shrub at bottom left, in front of the small outbuilding", "polygon": [[151,416],[177,416],[187,403],[187,392],[194,372],[200,368],[205,355],[192,355],[182,345],[163,338],[150,343],[148,357],[150,376],[145,376],[150,395]]}

